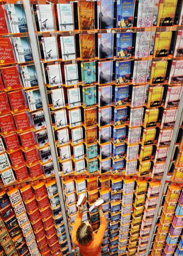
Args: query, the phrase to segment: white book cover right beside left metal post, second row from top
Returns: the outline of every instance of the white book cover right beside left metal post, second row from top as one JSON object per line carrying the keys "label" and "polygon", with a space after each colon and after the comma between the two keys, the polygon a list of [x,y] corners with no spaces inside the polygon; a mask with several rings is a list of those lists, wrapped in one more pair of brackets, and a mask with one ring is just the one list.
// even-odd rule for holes
{"label": "white book cover right beside left metal post, second row from top", "polygon": [[56,36],[41,38],[45,61],[58,60],[58,46]]}

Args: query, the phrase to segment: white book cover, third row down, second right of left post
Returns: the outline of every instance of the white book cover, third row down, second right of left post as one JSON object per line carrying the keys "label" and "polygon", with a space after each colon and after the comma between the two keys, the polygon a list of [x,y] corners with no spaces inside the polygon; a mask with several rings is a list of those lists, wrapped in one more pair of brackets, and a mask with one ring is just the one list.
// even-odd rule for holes
{"label": "white book cover, third row down, second right of left post", "polygon": [[67,86],[78,84],[78,65],[77,64],[64,65],[64,72],[65,72],[65,84]]}

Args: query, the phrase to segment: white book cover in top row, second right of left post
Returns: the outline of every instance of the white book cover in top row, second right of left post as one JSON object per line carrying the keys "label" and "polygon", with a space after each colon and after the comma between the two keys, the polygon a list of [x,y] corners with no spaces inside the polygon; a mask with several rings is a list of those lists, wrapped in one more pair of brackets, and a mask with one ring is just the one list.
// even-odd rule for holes
{"label": "white book cover in top row, second right of left post", "polygon": [[57,3],[59,31],[73,31],[74,17],[71,3]]}

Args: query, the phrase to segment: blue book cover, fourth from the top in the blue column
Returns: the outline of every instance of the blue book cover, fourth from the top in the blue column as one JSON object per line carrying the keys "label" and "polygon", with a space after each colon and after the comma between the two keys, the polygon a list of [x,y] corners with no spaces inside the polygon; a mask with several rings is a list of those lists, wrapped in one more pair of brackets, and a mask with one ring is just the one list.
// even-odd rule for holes
{"label": "blue book cover, fourth from the top in the blue column", "polygon": [[119,86],[115,88],[114,94],[114,105],[122,106],[127,103],[127,98],[129,96],[129,85]]}

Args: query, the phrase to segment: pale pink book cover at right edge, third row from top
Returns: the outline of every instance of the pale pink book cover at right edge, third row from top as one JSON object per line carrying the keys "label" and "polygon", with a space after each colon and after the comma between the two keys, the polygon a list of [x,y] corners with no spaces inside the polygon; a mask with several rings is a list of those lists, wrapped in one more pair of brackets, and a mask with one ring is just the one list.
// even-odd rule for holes
{"label": "pale pink book cover at right edge, third row from top", "polygon": [[182,60],[173,60],[171,72],[169,74],[168,84],[181,84],[183,80],[182,69],[183,69]]}

